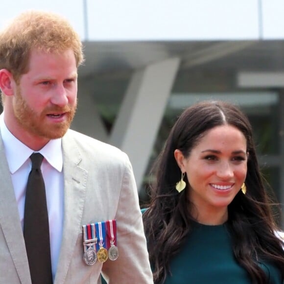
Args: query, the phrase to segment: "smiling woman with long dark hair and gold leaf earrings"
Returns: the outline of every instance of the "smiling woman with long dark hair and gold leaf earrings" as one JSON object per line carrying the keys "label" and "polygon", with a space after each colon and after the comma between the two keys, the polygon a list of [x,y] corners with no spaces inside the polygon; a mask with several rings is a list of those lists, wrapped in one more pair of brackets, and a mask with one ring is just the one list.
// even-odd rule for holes
{"label": "smiling woman with long dark hair and gold leaf earrings", "polygon": [[225,102],[189,107],[155,169],[143,213],[154,283],[283,283],[284,242],[239,109]]}

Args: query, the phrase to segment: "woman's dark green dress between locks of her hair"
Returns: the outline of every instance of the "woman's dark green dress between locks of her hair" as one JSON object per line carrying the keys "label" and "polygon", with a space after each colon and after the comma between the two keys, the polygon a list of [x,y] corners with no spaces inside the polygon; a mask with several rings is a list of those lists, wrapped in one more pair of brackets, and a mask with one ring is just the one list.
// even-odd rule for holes
{"label": "woman's dark green dress between locks of her hair", "polygon": [[[259,263],[269,278],[267,284],[283,284],[280,270]],[[181,251],[170,261],[172,275],[165,284],[251,284],[244,268],[236,261],[226,224],[193,224]]]}

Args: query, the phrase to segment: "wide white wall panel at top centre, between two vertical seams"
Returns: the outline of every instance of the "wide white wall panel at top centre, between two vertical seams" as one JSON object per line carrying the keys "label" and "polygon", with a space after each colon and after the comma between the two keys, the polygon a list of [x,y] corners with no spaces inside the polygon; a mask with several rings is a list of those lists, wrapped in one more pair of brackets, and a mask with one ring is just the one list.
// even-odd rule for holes
{"label": "wide white wall panel at top centre, between two vertical seams", "polygon": [[90,40],[259,38],[258,0],[87,0]]}

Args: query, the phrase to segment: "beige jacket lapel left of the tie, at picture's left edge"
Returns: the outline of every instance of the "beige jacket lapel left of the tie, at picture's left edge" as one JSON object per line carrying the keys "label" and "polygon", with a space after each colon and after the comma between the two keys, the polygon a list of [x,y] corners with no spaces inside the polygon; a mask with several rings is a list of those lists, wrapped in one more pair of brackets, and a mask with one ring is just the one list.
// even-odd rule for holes
{"label": "beige jacket lapel left of the tie, at picture's left edge", "polygon": [[1,135],[0,161],[0,227],[21,283],[31,283],[18,206]]}

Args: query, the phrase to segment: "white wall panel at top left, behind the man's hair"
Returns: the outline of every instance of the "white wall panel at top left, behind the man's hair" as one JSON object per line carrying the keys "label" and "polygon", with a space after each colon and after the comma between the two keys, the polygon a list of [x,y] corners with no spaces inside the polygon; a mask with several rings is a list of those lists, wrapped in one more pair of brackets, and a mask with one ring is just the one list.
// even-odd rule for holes
{"label": "white wall panel at top left, behind the man's hair", "polygon": [[1,1],[0,28],[25,10],[36,9],[66,17],[82,40],[85,40],[83,0],[11,0]]}

